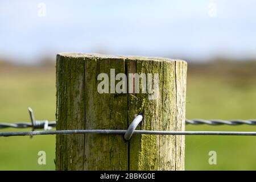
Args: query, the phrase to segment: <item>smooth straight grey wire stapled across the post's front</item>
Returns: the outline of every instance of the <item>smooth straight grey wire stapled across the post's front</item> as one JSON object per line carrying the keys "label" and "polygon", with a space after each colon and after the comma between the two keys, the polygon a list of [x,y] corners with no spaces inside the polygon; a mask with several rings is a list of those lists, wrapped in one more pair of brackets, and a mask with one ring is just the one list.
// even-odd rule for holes
{"label": "smooth straight grey wire stapled across the post's front", "polygon": [[[126,131],[127,130],[56,130],[56,131],[1,132],[0,137],[34,136],[34,135],[58,135],[58,134],[125,134]],[[236,131],[148,131],[148,130],[135,130],[134,134],[256,136],[256,132],[236,132]]]}

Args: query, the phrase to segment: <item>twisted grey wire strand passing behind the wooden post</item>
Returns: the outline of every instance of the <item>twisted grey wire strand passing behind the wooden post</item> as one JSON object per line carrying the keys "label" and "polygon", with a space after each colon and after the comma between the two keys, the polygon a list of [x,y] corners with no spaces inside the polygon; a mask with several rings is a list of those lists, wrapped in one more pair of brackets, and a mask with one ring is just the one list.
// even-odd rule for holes
{"label": "twisted grey wire strand passing behind the wooden post", "polygon": [[[45,121],[36,121],[35,122],[35,129],[43,129],[44,128]],[[221,120],[221,119],[186,119],[186,124],[191,125],[256,125],[256,119],[248,119],[248,120],[241,120],[241,119],[234,119],[234,120]],[[55,127],[56,122],[51,121],[48,123],[48,126]],[[33,127],[32,123],[29,122],[21,122],[21,123],[0,123],[0,129],[4,129],[7,127],[13,127],[13,128],[28,128]]]}

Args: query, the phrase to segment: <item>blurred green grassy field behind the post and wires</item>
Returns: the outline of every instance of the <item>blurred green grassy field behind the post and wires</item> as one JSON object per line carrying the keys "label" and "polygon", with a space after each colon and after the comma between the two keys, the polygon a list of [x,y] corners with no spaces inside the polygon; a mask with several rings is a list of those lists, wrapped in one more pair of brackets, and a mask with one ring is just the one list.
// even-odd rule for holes
{"label": "blurred green grassy field behind the post and wires", "polygon": [[[0,66],[1,67],[1,66]],[[223,68],[222,68],[223,69]],[[29,121],[27,106],[36,119],[55,120],[55,69],[0,69],[0,122]],[[187,118],[256,118],[256,78],[188,71]],[[256,126],[191,126],[186,130],[256,131]],[[1,131],[27,131],[5,129]],[[186,170],[255,170],[256,138],[187,136]],[[55,136],[0,138],[0,170],[54,170]],[[47,164],[38,165],[38,151],[46,151]],[[217,152],[217,165],[208,163]]]}

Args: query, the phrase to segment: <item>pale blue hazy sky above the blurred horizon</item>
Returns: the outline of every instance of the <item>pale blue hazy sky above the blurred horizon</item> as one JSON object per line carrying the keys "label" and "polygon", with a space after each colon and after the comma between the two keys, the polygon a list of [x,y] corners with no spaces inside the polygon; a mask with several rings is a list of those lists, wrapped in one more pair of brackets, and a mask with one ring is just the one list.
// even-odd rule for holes
{"label": "pale blue hazy sky above the blurred horizon", "polygon": [[255,40],[254,0],[0,0],[0,57],[24,63],[57,52],[256,57]]}

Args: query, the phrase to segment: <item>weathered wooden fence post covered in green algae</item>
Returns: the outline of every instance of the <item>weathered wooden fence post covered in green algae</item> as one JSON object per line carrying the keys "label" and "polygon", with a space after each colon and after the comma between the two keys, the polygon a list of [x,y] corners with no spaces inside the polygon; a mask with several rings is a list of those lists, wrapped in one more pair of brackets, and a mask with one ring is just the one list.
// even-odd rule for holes
{"label": "weathered wooden fence post covered in green algae", "polygon": [[[127,129],[137,114],[138,130],[185,129],[185,61],[60,53],[56,69],[57,130]],[[184,145],[172,135],[57,135],[56,169],[183,170]]]}

